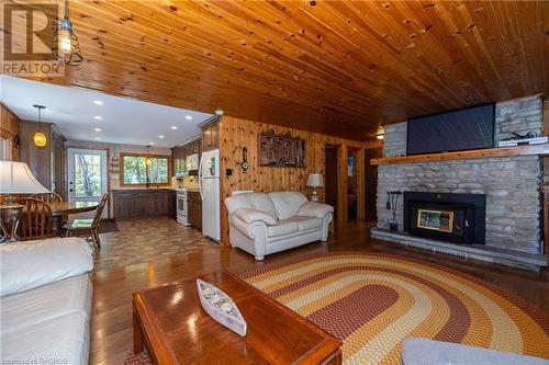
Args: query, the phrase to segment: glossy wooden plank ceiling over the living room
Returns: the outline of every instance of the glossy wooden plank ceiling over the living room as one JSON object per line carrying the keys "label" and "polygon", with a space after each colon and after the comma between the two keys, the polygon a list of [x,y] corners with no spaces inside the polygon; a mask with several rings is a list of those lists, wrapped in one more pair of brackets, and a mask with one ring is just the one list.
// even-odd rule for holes
{"label": "glossy wooden plank ceiling over the living room", "polygon": [[[541,1],[70,1],[86,58],[43,81],[370,139],[548,95]],[[544,22],[545,18],[545,22]]]}

